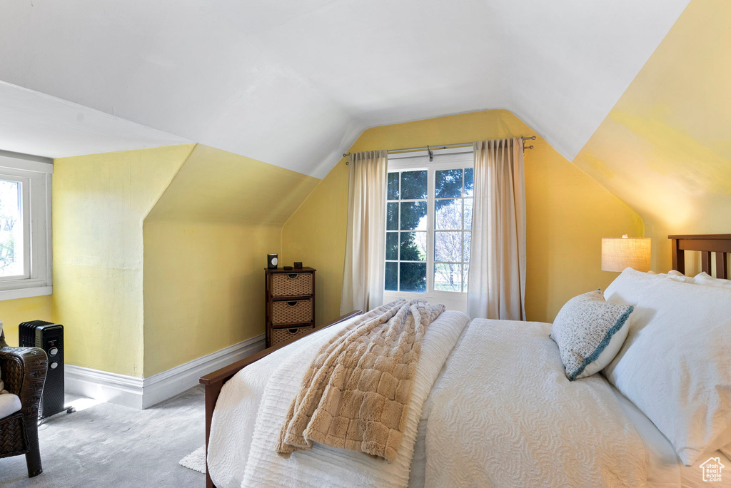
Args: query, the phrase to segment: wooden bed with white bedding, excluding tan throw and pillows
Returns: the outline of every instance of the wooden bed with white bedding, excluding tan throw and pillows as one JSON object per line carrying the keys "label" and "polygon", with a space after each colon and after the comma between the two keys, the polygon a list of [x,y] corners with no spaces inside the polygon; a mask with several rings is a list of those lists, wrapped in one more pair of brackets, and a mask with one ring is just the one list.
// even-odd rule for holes
{"label": "wooden bed with white bedding, excluding tan throw and pillows", "polygon": [[[731,235],[670,239],[675,270],[685,272],[685,251],[700,251],[710,275],[715,253],[716,278],[728,278]],[[699,290],[705,289],[693,291]],[[679,462],[673,443],[643,413],[647,406],[629,400],[621,380],[609,381],[621,362],[607,367],[609,373],[569,382],[550,324],[470,321],[454,311],[442,313],[424,335],[393,462],[321,445],[289,459],[278,456],[273,443],[304,370],[319,346],[358,316],[346,314],[284,348],[201,378],[208,487],[529,486],[537,480],[544,486],[695,487],[706,484],[706,457],[731,470],[721,451],[691,465]],[[637,336],[641,340],[642,331]]]}

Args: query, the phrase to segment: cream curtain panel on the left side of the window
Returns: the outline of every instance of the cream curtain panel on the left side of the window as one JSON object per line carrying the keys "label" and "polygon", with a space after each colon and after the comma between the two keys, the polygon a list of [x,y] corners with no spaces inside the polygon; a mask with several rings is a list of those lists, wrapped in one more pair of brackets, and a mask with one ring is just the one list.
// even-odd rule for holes
{"label": "cream curtain panel on the left side of the window", "polygon": [[341,313],[383,305],[388,153],[352,153]]}

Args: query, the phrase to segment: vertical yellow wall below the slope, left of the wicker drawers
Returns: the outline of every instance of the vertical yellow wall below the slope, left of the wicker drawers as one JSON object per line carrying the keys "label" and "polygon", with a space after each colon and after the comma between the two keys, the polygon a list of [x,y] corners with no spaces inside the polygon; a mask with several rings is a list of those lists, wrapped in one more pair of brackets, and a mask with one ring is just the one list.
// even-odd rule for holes
{"label": "vertical yellow wall below the slope, left of the wicker drawers", "polygon": [[267,253],[279,253],[280,234],[279,226],[145,224],[145,377],[264,333],[262,268]]}

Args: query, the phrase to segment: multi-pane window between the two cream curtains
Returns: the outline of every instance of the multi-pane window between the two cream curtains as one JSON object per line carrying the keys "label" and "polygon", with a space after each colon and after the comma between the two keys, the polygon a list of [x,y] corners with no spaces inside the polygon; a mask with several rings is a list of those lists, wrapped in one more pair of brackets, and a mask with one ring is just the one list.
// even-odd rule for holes
{"label": "multi-pane window between the two cream curtains", "polygon": [[413,154],[388,162],[385,297],[466,303],[474,156],[471,148],[435,151],[433,161]]}

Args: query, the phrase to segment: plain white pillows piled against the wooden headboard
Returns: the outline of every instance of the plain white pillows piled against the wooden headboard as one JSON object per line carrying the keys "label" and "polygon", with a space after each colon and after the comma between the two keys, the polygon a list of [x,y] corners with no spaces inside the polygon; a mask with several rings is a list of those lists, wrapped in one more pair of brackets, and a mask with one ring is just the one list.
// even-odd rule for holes
{"label": "plain white pillows piled against the wooden headboard", "polygon": [[731,442],[731,289],[624,270],[609,302],[635,305],[605,375],[690,466]]}

